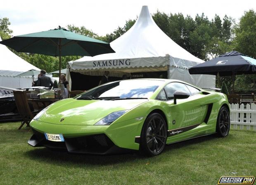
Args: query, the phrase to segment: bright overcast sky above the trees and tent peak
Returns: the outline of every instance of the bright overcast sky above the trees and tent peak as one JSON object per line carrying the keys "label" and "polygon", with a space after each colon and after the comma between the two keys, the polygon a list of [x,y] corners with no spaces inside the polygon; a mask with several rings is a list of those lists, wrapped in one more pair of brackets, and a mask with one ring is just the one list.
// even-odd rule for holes
{"label": "bright overcast sky above the trees and tent peak", "polygon": [[195,15],[204,12],[209,19],[227,14],[236,21],[244,11],[256,9],[256,0],[5,0],[0,3],[0,18],[11,22],[13,36],[66,27],[68,24],[85,26],[98,35],[123,27],[128,19],[140,14],[148,5],[151,14],[160,12]]}

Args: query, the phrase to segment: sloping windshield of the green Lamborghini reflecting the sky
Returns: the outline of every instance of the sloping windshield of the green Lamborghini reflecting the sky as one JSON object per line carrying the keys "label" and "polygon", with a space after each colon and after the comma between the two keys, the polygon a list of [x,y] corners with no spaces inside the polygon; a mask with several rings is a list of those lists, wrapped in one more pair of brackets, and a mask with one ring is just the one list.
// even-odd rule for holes
{"label": "sloping windshield of the green Lamborghini reflecting the sky", "polygon": [[125,99],[125,98],[149,98],[155,90],[164,84],[160,80],[125,80],[108,83],[99,86],[77,99]]}

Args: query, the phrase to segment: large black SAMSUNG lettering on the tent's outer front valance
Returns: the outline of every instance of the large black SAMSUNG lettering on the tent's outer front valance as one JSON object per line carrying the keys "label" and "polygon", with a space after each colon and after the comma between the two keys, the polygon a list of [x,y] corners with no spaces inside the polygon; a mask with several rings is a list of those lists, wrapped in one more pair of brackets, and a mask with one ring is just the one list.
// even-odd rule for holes
{"label": "large black SAMSUNG lettering on the tent's outer front valance", "polygon": [[93,67],[130,66],[130,59],[93,61]]}

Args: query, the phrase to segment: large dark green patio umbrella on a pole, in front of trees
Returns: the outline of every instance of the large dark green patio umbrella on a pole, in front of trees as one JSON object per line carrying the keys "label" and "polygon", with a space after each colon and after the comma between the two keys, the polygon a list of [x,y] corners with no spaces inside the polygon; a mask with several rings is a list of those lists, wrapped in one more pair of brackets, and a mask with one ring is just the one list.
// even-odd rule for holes
{"label": "large dark green patio umbrella on a pole, in front of trees", "polygon": [[107,42],[73,33],[60,26],[54,30],[15,36],[0,44],[17,52],[59,56],[59,80],[61,56],[95,56],[115,52]]}

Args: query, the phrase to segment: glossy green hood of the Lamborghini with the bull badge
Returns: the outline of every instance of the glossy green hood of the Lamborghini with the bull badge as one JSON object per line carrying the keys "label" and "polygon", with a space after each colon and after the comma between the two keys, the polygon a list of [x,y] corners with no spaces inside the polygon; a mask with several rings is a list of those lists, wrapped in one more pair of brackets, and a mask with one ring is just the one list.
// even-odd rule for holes
{"label": "glossy green hood of the Lamborghini with the bull badge", "polygon": [[[94,125],[115,111],[133,109],[147,99],[126,100],[60,100],[47,109],[39,121],[59,125]],[[61,119],[64,119],[60,121]]]}

